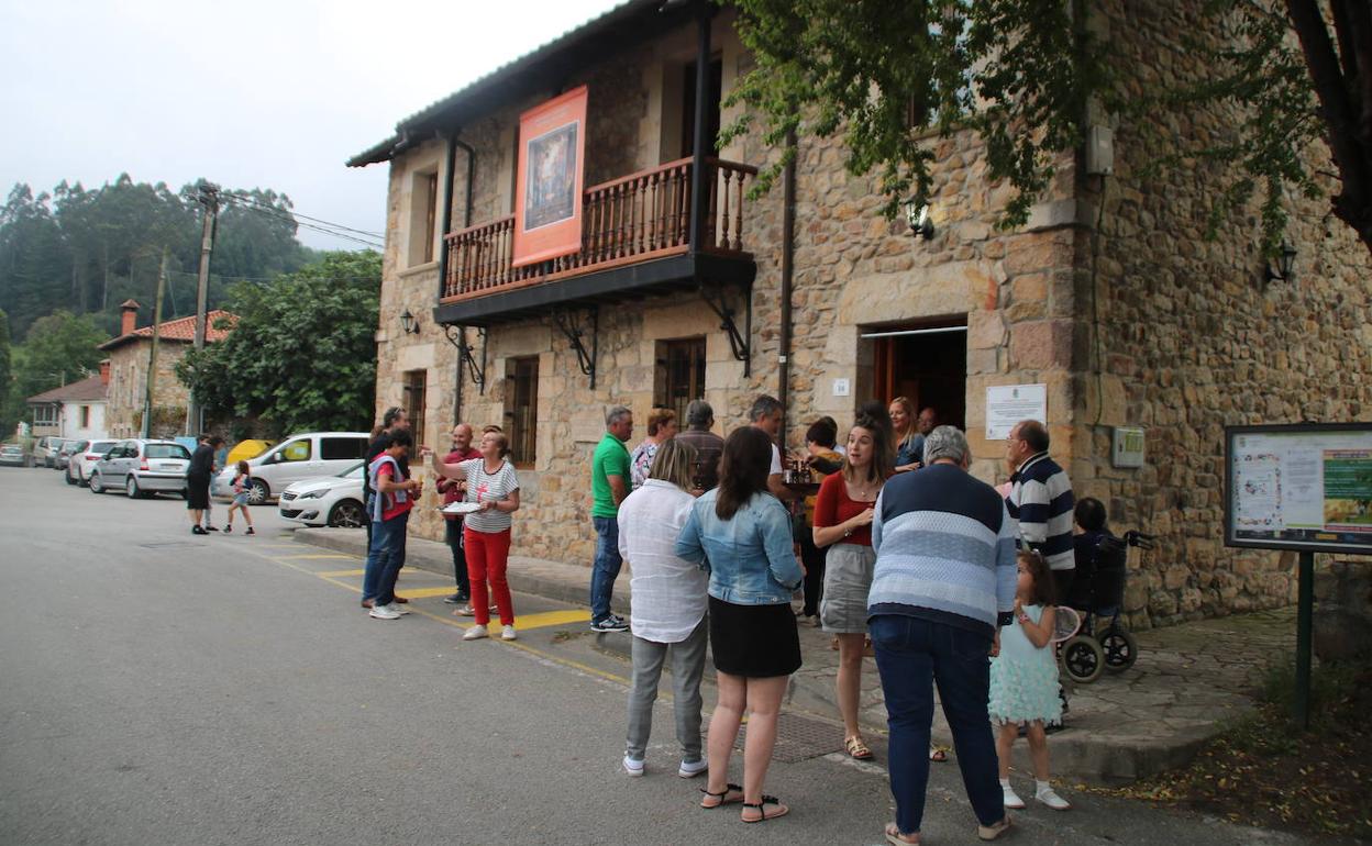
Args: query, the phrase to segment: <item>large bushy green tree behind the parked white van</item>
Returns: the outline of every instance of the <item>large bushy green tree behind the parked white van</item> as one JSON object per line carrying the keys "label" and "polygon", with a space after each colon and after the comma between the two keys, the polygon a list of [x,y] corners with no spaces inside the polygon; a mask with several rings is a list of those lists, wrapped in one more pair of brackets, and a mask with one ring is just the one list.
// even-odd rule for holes
{"label": "large bushy green tree behind the parked white van", "polygon": [[189,352],[177,376],[211,417],[258,417],[276,436],[368,429],[376,391],[377,252],[327,252],[266,284],[240,282],[221,343]]}

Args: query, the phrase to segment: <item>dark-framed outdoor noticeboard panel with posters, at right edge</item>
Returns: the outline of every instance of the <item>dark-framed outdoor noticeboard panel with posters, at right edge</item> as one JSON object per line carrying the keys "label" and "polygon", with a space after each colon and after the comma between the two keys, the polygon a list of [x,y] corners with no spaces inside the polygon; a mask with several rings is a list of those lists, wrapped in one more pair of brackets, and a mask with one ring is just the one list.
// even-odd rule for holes
{"label": "dark-framed outdoor noticeboard panel with posters, at right edge", "polygon": [[1372,555],[1372,422],[1224,436],[1225,546]]}

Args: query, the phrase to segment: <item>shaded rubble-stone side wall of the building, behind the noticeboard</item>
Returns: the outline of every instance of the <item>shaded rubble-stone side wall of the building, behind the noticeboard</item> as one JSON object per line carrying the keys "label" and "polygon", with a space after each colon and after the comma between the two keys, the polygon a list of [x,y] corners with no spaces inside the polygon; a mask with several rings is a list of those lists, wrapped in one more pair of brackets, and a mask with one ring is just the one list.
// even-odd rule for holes
{"label": "shaded rubble-stone side wall of the building, behind the noticeboard", "polygon": [[[1131,95],[1205,73],[1181,43],[1202,27],[1195,5],[1103,5]],[[1294,599],[1295,555],[1222,546],[1225,425],[1372,418],[1372,263],[1342,223],[1324,221],[1328,202],[1288,203],[1297,280],[1265,282],[1255,207],[1203,237],[1224,186],[1214,167],[1143,173],[1174,152],[1176,134],[1217,138],[1238,122],[1179,111],[1157,123],[1162,132],[1121,125],[1114,176],[1081,191],[1104,211],[1099,244],[1084,236],[1078,258],[1078,314],[1099,332],[1087,333],[1078,376],[1076,435],[1089,447],[1072,477],[1078,495],[1109,505],[1117,528],[1159,535],[1129,585],[1135,625]],[[1144,468],[1110,466],[1114,425],[1146,428]]]}

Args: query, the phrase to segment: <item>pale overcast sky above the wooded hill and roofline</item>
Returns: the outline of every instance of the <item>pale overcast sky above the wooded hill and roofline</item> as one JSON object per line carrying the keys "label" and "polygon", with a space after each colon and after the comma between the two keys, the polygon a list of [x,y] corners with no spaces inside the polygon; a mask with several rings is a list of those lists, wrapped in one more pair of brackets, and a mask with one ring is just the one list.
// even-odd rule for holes
{"label": "pale overcast sky above the wooded hill and roofline", "polygon": [[[128,171],[380,233],[395,122],[617,0],[0,0],[0,189]],[[3,202],[3,200],[0,200]],[[302,229],[320,248],[358,244]]]}

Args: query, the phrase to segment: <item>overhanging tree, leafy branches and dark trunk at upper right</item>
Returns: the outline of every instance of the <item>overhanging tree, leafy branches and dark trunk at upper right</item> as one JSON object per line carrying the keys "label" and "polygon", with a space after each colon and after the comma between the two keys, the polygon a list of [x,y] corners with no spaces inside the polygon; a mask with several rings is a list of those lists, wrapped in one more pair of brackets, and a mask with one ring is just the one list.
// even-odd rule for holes
{"label": "overhanging tree, leafy branches and dark trunk at upper right", "polygon": [[[720,0],[723,1],[723,0]],[[755,67],[731,103],[764,140],[842,133],[848,170],[879,170],[885,213],[922,197],[932,154],[921,138],[962,129],[986,145],[988,178],[1015,189],[1003,225],[1028,218],[1052,160],[1081,144],[1089,106],[1122,107],[1107,45],[1091,34],[1085,0],[734,0]],[[1242,169],[1216,206],[1224,214],[1265,192],[1268,248],[1286,223],[1281,192],[1321,192],[1336,176],[1332,213],[1372,251],[1372,7],[1367,0],[1207,0],[1210,32],[1195,38],[1213,75],[1161,92],[1150,108],[1243,107],[1236,140],[1192,151]],[[1218,37],[1216,37],[1218,36]],[[1312,163],[1328,144],[1338,174]],[[760,174],[766,191],[792,160]]]}

